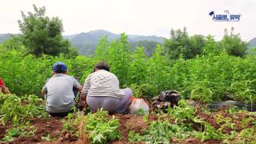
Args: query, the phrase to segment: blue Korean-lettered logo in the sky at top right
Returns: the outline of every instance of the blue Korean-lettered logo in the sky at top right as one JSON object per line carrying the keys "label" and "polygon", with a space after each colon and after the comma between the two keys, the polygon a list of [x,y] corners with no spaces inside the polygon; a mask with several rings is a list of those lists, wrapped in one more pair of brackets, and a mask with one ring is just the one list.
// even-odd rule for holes
{"label": "blue Korean-lettered logo in the sky at top right", "polygon": [[214,11],[209,13],[214,22],[239,22],[242,14],[230,14],[229,10],[224,10],[225,14],[214,14]]}

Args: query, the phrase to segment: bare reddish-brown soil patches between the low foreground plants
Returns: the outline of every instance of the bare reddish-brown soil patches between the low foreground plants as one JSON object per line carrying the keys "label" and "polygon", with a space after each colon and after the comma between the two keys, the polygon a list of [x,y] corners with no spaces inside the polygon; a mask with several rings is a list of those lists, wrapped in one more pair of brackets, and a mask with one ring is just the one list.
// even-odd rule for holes
{"label": "bare reddish-brown soil patches between the low foreground plants", "polygon": [[[220,128],[218,123],[215,120],[215,116],[218,114],[222,114],[225,118],[230,118],[231,122],[235,124],[235,130],[240,131],[242,130],[242,120],[245,118],[254,118],[254,121],[256,120],[255,116],[251,116],[247,113],[238,113],[238,114],[229,114],[225,108],[219,109],[218,112],[214,112],[211,114],[205,114],[202,112],[201,108],[197,108],[196,115],[198,118],[202,118],[204,121],[209,122],[212,126],[214,126],[215,129]],[[149,123],[157,120],[158,117],[156,115],[150,115],[148,117],[147,122],[143,121],[143,116],[138,115],[122,115],[122,114],[115,114],[115,118],[119,119],[120,127],[119,130],[122,133],[122,140],[121,141],[114,141],[111,143],[114,144],[121,144],[121,143],[130,143],[128,142],[129,138],[129,132],[130,130],[133,130],[134,133],[142,134],[143,130],[148,129]],[[162,120],[169,120],[171,123],[174,123],[174,119],[171,119],[169,116],[162,117]],[[82,137],[84,138],[75,138],[70,134],[69,132],[62,132],[62,122],[61,118],[53,118],[50,117],[47,120],[42,118],[34,118],[30,120],[30,125],[37,127],[36,134],[33,136],[30,136],[28,138],[16,138],[14,142],[11,143],[88,143],[88,135],[84,135]],[[248,125],[246,127],[250,127],[251,124],[248,122]],[[6,126],[0,125],[0,139],[4,137],[6,130],[11,127],[11,124],[8,123]],[[80,127],[80,126],[79,126]],[[79,128],[80,129],[80,128]],[[230,134],[231,128],[224,128],[222,132],[224,134]],[[46,137],[47,134],[51,135],[51,138],[58,138],[57,141],[53,142],[45,142],[42,140],[42,137]],[[0,141],[0,143],[2,143]],[[135,142],[135,143],[145,143],[145,142]],[[178,140],[172,139],[172,143],[220,143],[218,140],[208,140],[206,142],[201,142],[201,139],[198,138],[187,138],[183,142],[178,142]]]}

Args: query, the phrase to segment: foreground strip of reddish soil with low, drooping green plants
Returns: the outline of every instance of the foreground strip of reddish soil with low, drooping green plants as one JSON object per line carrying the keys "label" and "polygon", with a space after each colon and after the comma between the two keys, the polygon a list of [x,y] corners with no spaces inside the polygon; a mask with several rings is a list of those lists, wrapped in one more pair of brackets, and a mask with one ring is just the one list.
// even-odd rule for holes
{"label": "foreground strip of reddish soil with low, drooping green plants", "polygon": [[1,94],[2,142],[71,143],[254,143],[256,114],[234,107],[210,111],[181,100],[166,113],[115,114],[86,110],[49,117],[37,96]]}

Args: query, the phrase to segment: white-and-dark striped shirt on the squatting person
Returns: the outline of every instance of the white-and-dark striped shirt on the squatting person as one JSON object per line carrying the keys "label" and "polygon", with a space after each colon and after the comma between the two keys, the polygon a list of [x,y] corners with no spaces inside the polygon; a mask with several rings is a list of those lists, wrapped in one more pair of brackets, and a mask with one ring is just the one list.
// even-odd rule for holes
{"label": "white-and-dark striped shirt on the squatting person", "polygon": [[82,89],[83,94],[90,97],[122,98],[125,95],[119,88],[118,78],[106,70],[98,70],[86,78]]}

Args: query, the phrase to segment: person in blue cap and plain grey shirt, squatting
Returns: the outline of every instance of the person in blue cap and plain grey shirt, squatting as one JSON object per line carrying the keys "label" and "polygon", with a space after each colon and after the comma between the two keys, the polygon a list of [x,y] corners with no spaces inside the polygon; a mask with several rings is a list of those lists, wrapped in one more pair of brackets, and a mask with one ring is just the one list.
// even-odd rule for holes
{"label": "person in blue cap and plain grey shirt, squatting", "polygon": [[74,78],[66,74],[67,67],[63,62],[56,62],[53,66],[53,76],[47,79],[42,88],[42,96],[46,99],[46,111],[52,116],[63,117],[71,112],[76,88],[82,90],[82,86]]}

